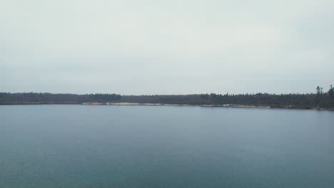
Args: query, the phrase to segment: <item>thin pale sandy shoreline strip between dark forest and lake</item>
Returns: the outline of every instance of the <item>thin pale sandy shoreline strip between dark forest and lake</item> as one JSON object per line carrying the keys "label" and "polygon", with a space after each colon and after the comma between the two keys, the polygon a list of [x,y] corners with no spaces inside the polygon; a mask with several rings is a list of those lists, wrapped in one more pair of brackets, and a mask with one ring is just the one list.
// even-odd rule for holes
{"label": "thin pale sandy shoreline strip between dark forest and lake", "polygon": [[0,103],[0,105],[123,105],[123,106],[198,106],[198,107],[223,107],[223,108],[277,108],[277,109],[298,109],[298,110],[334,110],[334,108],[302,108],[298,105],[248,105],[248,104],[169,104],[169,103],[96,103],[96,102],[13,102]]}

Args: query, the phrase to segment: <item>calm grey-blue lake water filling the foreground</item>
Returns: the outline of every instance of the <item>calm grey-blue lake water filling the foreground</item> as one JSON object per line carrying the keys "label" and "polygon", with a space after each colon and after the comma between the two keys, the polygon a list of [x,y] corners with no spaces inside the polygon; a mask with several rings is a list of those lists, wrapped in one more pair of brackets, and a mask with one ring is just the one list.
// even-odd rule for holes
{"label": "calm grey-blue lake water filling the foreground", "polygon": [[334,187],[334,112],[0,106],[1,188]]}

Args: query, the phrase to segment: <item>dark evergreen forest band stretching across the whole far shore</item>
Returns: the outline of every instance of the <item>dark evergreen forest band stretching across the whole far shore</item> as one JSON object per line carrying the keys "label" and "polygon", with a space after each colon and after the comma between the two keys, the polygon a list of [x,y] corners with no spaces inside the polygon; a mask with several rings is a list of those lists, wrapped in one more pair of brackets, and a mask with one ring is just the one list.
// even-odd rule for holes
{"label": "dark evergreen forest band stretching across the whole far shore", "polygon": [[12,104],[80,104],[91,103],[162,103],[184,105],[270,105],[273,108],[334,108],[334,88],[328,92],[317,87],[310,94],[196,94],[196,95],[118,95],[118,94],[51,94],[0,93],[0,105]]}

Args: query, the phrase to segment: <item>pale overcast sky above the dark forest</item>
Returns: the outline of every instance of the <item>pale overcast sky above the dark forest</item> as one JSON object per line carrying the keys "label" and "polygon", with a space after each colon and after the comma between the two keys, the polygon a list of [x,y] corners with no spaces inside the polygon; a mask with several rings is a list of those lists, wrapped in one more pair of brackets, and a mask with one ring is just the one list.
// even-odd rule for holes
{"label": "pale overcast sky above the dark forest", "polygon": [[0,0],[0,92],[314,93],[334,1]]}

